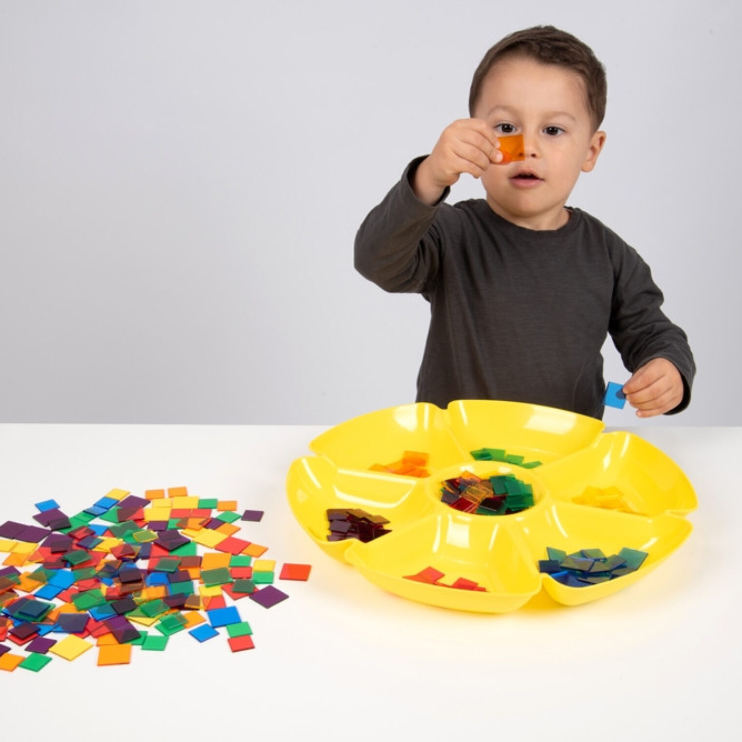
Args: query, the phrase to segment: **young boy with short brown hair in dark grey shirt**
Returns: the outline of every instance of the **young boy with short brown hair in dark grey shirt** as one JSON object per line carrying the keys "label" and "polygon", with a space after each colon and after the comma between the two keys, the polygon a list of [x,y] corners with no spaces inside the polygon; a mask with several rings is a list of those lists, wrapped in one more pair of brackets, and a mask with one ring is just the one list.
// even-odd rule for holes
{"label": "young boy with short brown hair in dark grey shirt", "polygon": [[[692,352],[649,267],[565,206],[605,144],[605,91],[603,65],[571,34],[507,36],[474,73],[472,117],[447,127],[364,220],[356,269],[430,302],[418,401],[505,399],[602,418],[610,332],[633,372],[623,390],[637,416],[689,404]],[[510,134],[523,135],[525,159],[502,164],[499,137]],[[449,206],[462,173],[486,198]]]}

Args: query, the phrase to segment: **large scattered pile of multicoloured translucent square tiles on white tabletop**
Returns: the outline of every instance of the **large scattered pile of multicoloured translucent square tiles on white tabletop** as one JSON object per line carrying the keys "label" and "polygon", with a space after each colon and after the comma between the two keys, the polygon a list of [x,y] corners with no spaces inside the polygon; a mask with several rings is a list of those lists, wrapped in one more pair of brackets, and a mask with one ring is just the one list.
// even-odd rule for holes
{"label": "large scattered pile of multicoloured translucent square tiles on white tabletop", "polygon": [[[134,646],[162,651],[180,631],[199,642],[226,632],[232,651],[253,649],[234,603],[289,597],[272,584],[275,561],[260,558],[267,547],[237,537],[237,502],[174,487],[143,498],[111,490],[69,517],[53,500],[36,508],[40,525],[0,525],[0,669],[38,672],[93,646],[98,665],[126,664]],[[241,520],[262,516],[246,510]],[[284,564],[279,577],[307,580],[310,569]]]}

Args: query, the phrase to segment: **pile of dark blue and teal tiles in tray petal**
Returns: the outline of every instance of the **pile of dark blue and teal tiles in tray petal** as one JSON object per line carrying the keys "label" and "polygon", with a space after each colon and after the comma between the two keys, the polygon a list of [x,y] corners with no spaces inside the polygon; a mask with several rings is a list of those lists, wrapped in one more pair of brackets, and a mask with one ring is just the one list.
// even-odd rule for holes
{"label": "pile of dark blue and teal tiles in tray petal", "polygon": [[600,549],[582,549],[567,554],[561,549],[546,549],[548,559],[539,560],[539,571],[570,588],[586,588],[615,580],[637,571],[649,556],[646,551],[624,547],[618,554],[606,557]]}

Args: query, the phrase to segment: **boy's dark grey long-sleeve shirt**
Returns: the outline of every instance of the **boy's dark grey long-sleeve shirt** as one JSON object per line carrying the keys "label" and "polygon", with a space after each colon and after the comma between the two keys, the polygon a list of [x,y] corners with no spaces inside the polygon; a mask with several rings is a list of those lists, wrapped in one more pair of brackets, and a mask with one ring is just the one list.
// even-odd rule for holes
{"label": "boy's dark grey long-sleeve shirt", "polygon": [[362,275],[430,302],[418,401],[504,399],[602,418],[600,350],[610,332],[631,372],[652,358],[672,361],[685,387],[672,412],[687,407],[691,349],[633,248],[580,209],[562,228],[539,232],[485,200],[427,206],[409,180],[421,159],[355,238]]}

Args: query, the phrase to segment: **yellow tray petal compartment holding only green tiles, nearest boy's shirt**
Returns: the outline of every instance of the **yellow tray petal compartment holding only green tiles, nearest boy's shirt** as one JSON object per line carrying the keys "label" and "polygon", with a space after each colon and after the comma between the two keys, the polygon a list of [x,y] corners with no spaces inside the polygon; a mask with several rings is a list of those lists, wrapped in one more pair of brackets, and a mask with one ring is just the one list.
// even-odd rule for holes
{"label": "yellow tray petal compartment holding only green tiles, nearest boy's shirt", "polygon": [[582,450],[605,427],[594,418],[521,402],[466,399],[451,402],[446,413],[451,433],[467,453],[505,448],[542,464]]}

